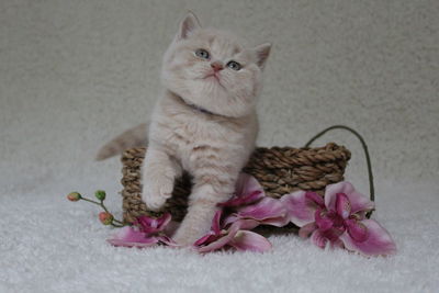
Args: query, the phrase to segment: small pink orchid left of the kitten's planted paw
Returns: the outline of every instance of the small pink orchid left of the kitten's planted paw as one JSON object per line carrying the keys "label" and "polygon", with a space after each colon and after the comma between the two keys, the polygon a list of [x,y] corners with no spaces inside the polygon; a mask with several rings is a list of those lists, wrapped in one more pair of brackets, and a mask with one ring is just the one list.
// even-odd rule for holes
{"label": "small pink orchid left of the kitten's planted paw", "polygon": [[137,218],[135,226],[125,226],[119,229],[108,241],[114,246],[124,247],[143,248],[157,244],[175,247],[177,244],[162,233],[170,221],[171,215],[169,213],[159,218],[144,215]]}

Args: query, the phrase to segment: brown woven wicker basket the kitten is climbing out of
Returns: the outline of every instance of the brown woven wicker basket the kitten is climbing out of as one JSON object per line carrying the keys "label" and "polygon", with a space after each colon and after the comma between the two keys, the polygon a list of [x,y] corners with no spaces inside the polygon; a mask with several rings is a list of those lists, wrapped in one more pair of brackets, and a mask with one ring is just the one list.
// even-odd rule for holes
{"label": "brown woven wicker basket the kitten is climbing out of", "polygon": [[[142,201],[140,166],[145,148],[128,149],[123,154],[122,190],[124,221],[133,223],[137,216],[151,214]],[[252,154],[244,171],[252,174],[266,194],[280,198],[296,190],[313,190],[323,194],[327,184],[344,180],[350,151],[334,143],[317,148],[259,147]],[[176,182],[173,195],[165,205],[175,221],[181,221],[187,212],[190,178],[185,174]],[[154,213],[153,213],[154,214]]]}

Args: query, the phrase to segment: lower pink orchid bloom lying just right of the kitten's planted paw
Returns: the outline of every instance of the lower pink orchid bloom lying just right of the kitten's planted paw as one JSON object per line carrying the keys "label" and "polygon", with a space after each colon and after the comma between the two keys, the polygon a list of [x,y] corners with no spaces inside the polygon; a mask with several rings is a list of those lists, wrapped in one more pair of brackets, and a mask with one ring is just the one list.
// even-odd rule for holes
{"label": "lower pink orchid bloom lying just right of the kitten's planted paw", "polygon": [[271,248],[271,244],[266,237],[248,230],[258,226],[256,221],[236,221],[227,229],[222,229],[222,213],[223,211],[221,210],[215,213],[211,232],[194,243],[194,247],[199,252],[204,253],[226,247],[264,252]]}

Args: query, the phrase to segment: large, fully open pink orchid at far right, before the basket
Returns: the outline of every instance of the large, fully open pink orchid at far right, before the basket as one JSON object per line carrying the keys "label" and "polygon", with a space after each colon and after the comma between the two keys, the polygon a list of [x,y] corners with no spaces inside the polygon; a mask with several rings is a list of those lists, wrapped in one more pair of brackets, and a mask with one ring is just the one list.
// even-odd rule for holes
{"label": "large, fully open pink orchid at far right, before the basket", "polygon": [[349,182],[326,187],[324,199],[315,192],[297,191],[281,198],[290,221],[318,247],[345,247],[365,256],[391,255],[396,251],[389,233],[365,214],[374,203],[357,192]]}

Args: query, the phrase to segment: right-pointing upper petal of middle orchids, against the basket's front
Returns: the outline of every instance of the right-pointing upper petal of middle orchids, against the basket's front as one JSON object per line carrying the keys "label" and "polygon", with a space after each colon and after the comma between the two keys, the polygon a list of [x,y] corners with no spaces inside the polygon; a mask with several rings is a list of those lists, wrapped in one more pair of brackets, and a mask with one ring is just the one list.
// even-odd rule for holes
{"label": "right-pointing upper petal of middle orchids, against the basket's front", "polygon": [[[279,200],[264,198],[260,202],[239,209],[238,216],[241,218],[252,218],[261,222],[261,224],[284,226],[290,221],[286,216],[286,209]],[[272,219],[277,221],[272,221]],[[264,222],[264,223],[262,223]]]}

